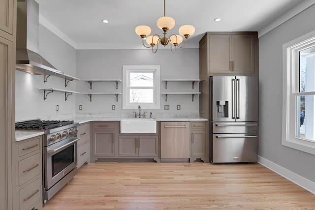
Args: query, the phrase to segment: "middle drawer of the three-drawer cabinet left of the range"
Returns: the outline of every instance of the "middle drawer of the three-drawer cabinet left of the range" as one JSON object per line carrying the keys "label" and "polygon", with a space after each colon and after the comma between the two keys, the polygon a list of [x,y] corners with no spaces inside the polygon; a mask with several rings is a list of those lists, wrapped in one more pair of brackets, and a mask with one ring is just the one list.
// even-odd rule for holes
{"label": "middle drawer of the three-drawer cabinet left of the range", "polygon": [[19,161],[19,186],[40,174],[41,158],[37,153]]}

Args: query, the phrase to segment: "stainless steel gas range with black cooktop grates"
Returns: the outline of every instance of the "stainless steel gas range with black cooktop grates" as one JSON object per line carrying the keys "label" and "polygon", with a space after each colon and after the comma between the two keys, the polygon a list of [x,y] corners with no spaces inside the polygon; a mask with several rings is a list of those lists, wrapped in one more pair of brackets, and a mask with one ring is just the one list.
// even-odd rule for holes
{"label": "stainless steel gas range with black cooktop grates", "polygon": [[43,203],[53,197],[77,173],[78,123],[59,120],[16,122],[16,130],[44,131]]}

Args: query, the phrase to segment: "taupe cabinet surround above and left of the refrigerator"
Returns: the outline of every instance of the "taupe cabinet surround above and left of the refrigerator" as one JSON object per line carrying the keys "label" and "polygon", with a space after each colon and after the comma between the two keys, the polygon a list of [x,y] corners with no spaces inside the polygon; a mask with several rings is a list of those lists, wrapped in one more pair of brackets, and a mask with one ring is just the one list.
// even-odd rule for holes
{"label": "taupe cabinet surround above and left of the refrigerator", "polygon": [[258,76],[257,32],[206,32],[199,41],[199,113],[200,117],[208,119],[208,141],[210,76]]}

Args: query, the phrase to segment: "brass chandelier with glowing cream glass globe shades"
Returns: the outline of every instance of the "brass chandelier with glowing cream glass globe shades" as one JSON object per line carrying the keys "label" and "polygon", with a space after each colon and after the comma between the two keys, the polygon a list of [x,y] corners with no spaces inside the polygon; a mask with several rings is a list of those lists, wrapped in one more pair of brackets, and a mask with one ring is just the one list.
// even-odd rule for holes
{"label": "brass chandelier with glowing cream glass globe shades", "polygon": [[[165,16],[165,0],[164,0],[164,16],[160,17],[157,21],[158,28],[163,30],[163,37],[161,38],[158,34],[154,34],[151,36],[151,28],[148,26],[137,26],[135,29],[136,34],[138,34],[142,38],[142,44],[146,48],[152,48],[152,52],[156,53],[158,51],[158,43],[160,43],[163,46],[166,46],[168,43],[170,43],[170,49],[172,53],[176,52],[176,47],[183,48],[187,44],[187,39],[189,36],[191,36],[195,32],[195,28],[191,25],[184,25],[181,26],[178,30],[180,35],[172,34],[169,37],[166,37],[166,32],[170,29],[173,29],[175,26],[175,20],[171,17]],[[180,46],[183,42],[183,37],[185,37],[186,41],[183,46]],[[147,44],[150,46],[146,46],[144,43],[144,40],[146,40]],[[172,48],[172,45],[174,45],[174,50]],[[156,46],[156,48],[155,48]],[[154,49],[155,48],[155,49]]]}

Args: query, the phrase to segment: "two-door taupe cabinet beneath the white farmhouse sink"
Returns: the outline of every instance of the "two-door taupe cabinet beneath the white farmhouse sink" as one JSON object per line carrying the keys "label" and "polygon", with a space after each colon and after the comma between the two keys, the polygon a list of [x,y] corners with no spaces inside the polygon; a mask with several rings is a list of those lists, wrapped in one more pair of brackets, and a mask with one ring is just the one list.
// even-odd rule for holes
{"label": "two-door taupe cabinet beneath the white farmhouse sink", "polygon": [[158,157],[158,135],[120,135],[118,148],[120,157]]}

